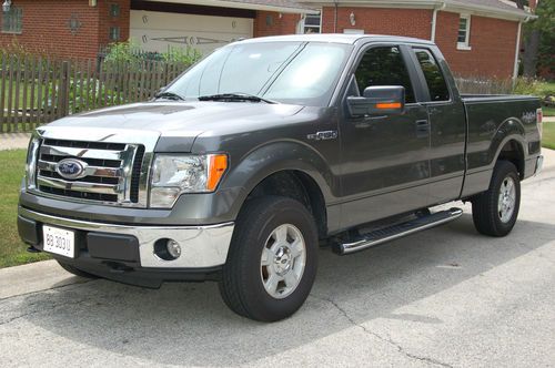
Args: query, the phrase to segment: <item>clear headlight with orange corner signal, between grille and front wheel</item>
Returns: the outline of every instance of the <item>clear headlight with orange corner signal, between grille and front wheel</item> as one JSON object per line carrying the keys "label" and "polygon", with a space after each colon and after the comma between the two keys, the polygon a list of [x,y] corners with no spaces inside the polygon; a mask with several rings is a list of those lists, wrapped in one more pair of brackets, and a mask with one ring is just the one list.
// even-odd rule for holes
{"label": "clear headlight with orange corner signal, between grille and front wheel", "polygon": [[183,193],[213,192],[226,168],[225,154],[158,154],[152,164],[150,206],[170,208]]}

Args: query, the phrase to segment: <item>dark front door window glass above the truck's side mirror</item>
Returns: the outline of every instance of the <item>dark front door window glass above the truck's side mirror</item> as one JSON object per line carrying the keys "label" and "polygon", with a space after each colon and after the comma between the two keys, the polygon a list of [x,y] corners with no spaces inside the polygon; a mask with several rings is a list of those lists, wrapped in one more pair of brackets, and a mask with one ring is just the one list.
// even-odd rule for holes
{"label": "dark front door window glass above the truck's side mirror", "polygon": [[414,91],[401,50],[397,47],[380,47],[364,53],[355,72],[359,92],[363,95],[367,86],[402,85],[406,103],[414,103]]}

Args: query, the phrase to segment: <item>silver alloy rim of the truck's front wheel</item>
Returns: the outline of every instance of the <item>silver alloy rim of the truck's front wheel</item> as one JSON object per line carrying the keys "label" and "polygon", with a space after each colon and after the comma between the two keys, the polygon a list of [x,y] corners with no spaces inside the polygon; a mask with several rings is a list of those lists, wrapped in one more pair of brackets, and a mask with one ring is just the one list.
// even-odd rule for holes
{"label": "silver alloy rim of the truck's front wheel", "polygon": [[306,246],[299,228],[276,227],[268,237],[260,262],[260,276],[268,294],[282,299],[295,290],[303,277]]}

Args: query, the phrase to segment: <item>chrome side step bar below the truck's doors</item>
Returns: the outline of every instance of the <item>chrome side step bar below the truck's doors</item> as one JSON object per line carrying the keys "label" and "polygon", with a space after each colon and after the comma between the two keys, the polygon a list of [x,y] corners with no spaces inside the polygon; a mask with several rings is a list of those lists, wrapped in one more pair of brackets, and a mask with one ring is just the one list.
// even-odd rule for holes
{"label": "chrome side step bar below the truck's doors", "polygon": [[452,222],[463,215],[463,209],[451,208],[434,214],[417,217],[402,224],[373,231],[351,243],[335,244],[334,251],[340,255],[346,255],[364,251],[376,245],[397,239],[427,228],[432,228]]}

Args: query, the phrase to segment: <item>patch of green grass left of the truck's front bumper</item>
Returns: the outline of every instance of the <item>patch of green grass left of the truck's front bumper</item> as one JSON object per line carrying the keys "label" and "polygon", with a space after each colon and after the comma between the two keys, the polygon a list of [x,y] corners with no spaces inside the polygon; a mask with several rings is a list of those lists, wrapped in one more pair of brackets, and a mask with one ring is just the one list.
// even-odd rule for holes
{"label": "patch of green grass left of the truck's front bumper", "polygon": [[24,150],[0,151],[0,268],[49,258],[43,253],[28,253],[18,235],[18,195],[24,164]]}

